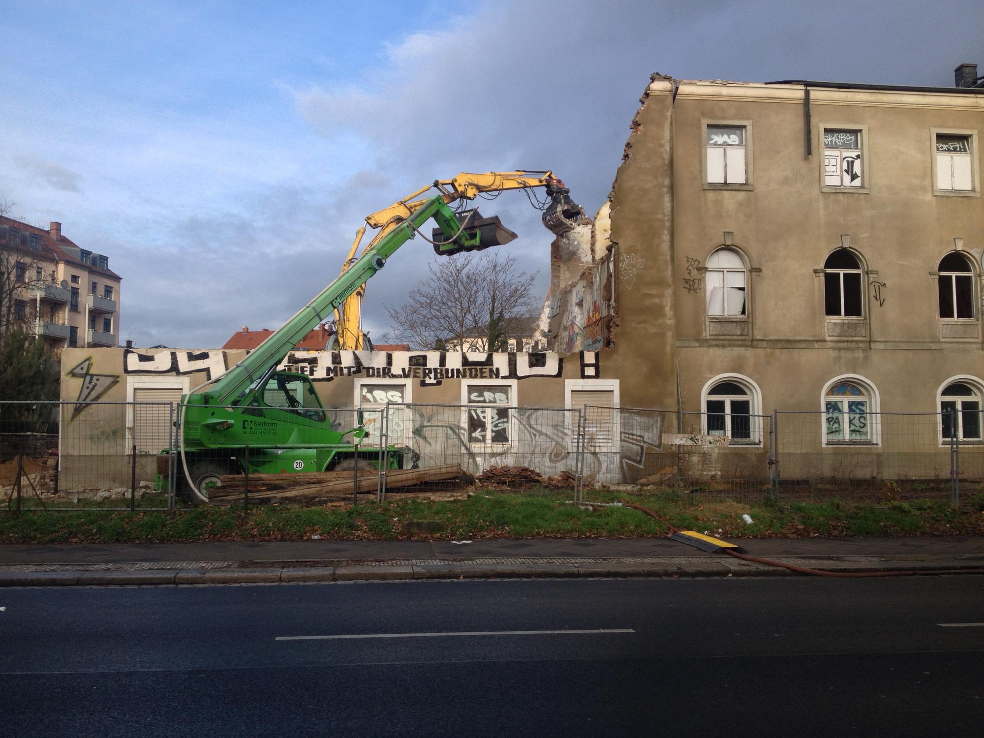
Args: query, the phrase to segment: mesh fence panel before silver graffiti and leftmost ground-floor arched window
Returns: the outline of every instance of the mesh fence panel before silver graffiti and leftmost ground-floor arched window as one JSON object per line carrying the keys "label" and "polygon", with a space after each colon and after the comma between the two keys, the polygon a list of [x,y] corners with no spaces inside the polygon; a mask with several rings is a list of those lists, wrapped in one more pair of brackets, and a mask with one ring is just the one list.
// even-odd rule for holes
{"label": "mesh fence panel before silver graffiti and leftmost ground-floor arched window", "polygon": [[[769,494],[769,415],[584,407],[584,489]],[[585,495],[590,499],[591,493]]]}

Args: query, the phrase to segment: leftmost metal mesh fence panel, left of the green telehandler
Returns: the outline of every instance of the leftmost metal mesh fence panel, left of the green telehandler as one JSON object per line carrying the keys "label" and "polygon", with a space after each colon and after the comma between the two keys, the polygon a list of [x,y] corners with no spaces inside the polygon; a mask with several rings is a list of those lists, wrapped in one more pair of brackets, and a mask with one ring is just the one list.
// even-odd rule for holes
{"label": "leftmost metal mesh fence panel, left of the green telehandler", "polygon": [[170,402],[0,402],[3,509],[168,509],[172,417]]}

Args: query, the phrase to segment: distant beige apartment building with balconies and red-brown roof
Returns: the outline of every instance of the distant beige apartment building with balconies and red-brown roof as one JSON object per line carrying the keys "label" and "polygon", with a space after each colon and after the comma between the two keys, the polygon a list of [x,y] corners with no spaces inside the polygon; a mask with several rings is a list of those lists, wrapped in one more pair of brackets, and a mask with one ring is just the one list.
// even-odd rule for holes
{"label": "distant beige apartment building with balconies and red-brown roof", "polygon": [[0,217],[6,325],[23,325],[52,348],[117,344],[120,277],[109,257],[84,249],[52,221],[47,230]]}

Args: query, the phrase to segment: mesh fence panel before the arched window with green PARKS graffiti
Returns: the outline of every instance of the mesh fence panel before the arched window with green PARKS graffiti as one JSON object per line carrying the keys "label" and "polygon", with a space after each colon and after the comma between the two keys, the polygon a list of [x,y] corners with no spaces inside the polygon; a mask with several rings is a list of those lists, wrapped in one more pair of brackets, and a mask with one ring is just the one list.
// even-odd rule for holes
{"label": "mesh fence panel before the arched window with green PARKS graffiti", "polygon": [[[783,497],[953,496],[955,439],[940,413],[776,413],[778,490]],[[963,445],[960,442],[960,454]],[[966,464],[981,478],[979,454]]]}

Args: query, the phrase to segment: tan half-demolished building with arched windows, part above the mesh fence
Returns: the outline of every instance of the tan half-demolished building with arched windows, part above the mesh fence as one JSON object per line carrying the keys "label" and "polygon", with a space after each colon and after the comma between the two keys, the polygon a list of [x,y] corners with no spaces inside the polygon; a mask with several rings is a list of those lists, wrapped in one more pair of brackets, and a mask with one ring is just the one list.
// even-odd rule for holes
{"label": "tan half-demolished building with arched windows, part above the mesh fence", "polygon": [[941,443],[982,439],[984,89],[955,82],[655,76],[612,194],[623,400],[749,440],[750,415],[813,410],[866,445],[875,413],[957,408]]}

